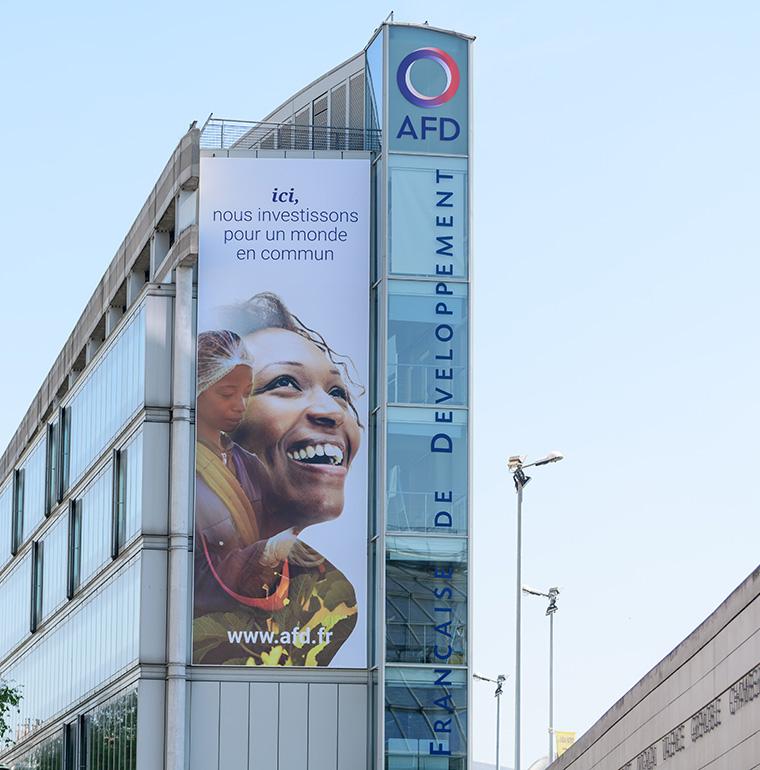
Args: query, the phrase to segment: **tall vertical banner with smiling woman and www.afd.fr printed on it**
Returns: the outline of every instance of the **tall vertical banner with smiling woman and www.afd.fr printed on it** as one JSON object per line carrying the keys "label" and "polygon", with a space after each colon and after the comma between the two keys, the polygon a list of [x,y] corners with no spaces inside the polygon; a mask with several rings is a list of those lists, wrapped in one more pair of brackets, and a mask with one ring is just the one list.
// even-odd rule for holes
{"label": "tall vertical banner with smiling woman and www.afd.fr printed on it", "polygon": [[365,667],[369,162],[200,185],[193,663]]}

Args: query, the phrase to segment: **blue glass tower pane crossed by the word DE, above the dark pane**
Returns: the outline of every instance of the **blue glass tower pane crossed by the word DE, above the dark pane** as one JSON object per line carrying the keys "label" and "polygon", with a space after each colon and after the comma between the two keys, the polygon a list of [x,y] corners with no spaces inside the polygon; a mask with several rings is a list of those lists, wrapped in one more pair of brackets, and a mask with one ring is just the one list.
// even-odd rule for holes
{"label": "blue glass tower pane crossed by the word DE, above the dark pane", "polygon": [[390,407],[386,451],[386,530],[466,532],[467,413]]}

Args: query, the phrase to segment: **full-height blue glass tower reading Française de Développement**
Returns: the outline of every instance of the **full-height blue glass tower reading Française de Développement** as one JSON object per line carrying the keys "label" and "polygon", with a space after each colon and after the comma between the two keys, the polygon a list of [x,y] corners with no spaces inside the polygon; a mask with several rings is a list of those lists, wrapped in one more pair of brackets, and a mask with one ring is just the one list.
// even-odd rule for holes
{"label": "full-height blue glass tower reading Fran\u00e7aise de D\u00e9veloppement", "polygon": [[[466,150],[444,140],[455,138],[455,124],[457,136],[466,132],[467,96],[464,83],[456,105],[442,106],[449,95],[431,106],[419,93],[456,92],[445,72],[458,66],[466,81],[468,43],[393,24],[384,35],[383,67],[377,40],[367,50],[370,85],[385,89],[385,102],[370,91],[368,105],[368,119],[384,126],[373,298],[382,337],[384,768],[465,770],[469,179]],[[445,65],[421,55],[441,50]]]}

